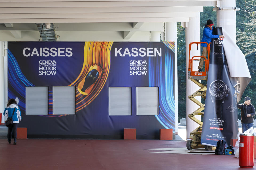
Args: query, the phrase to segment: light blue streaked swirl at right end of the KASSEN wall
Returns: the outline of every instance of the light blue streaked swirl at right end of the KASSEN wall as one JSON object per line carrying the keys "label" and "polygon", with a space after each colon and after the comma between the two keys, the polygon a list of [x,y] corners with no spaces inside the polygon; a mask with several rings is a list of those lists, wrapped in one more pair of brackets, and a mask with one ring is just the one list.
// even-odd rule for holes
{"label": "light blue streaked swirl at right end of the KASSEN wall", "polygon": [[164,63],[160,59],[154,65],[153,58],[149,57],[149,86],[163,85],[159,88],[159,115],[155,117],[166,129],[175,131],[174,58],[170,57],[171,51],[174,52],[174,42],[163,43],[166,45]]}

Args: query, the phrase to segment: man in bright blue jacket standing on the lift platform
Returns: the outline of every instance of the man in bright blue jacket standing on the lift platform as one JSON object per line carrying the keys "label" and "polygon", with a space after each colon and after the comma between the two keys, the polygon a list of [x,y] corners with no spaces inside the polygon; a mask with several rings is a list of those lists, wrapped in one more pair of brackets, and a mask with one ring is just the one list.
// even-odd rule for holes
{"label": "man in bright blue jacket standing on the lift platform", "polygon": [[[223,35],[213,35],[213,21],[208,19],[206,24],[205,24],[205,28],[203,29],[203,38],[201,42],[206,42],[206,43],[210,43],[211,39],[213,38],[224,38]],[[203,52],[202,52],[202,56],[206,57],[208,54],[207,51],[207,44],[202,43],[201,46],[203,47]],[[198,66],[198,71],[201,72],[202,71],[202,67],[203,67],[203,61],[205,60],[205,58],[201,57],[200,61],[199,61],[199,66]]]}

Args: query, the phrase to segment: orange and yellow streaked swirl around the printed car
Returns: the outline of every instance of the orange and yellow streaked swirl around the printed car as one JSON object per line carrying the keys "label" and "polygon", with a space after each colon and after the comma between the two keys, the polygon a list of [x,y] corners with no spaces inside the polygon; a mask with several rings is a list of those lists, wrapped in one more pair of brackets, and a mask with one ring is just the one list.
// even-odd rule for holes
{"label": "orange and yellow streaked swirl around the printed car", "polygon": [[90,67],[93,65],[100,66],[102,68],[102,75],[97,79],[92,87],[90,94],[83,95],[78,89],[75,90],[76,111],[80,111],[90,104],[95,97],[102,90],[106,83],[110,69],[110,49],[113,42],[86,42],[84,48],[84,62],[83,69],[77,77],[77,79],[69,86],[79,86],[79,83],[84,82]]}

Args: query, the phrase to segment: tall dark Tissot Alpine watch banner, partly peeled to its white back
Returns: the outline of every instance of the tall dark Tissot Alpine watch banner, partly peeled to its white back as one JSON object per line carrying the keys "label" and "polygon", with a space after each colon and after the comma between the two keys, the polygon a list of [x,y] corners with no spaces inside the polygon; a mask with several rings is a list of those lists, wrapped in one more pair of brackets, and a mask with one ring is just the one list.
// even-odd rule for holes
{"label": "tall dark Tissot Alpine watch banner, partly peeled to its white back", "polygon": [[[214,28],[213,32],[215,35],[223,35],[221,27]],[[249,81],[241,82],[241,80],[246,77],[249,78],[250,74],[248,76],[248,73],[243,75],[237,75],[234,72],[230,73],[230,70],[237,69],[233,64],[234,60],[238,60],[236,61],[238,63],[241,60],[244,63],[245,57],[240,55],[238,58],[233,58],[229,48],[238,47],[232,44],[227,34],[224,34],[224,36],[227,41],[219,38],[213,39],[211,42],[201,136],[202,145],[216,146],[217,141],[220,139],[224,139],[227,142],[226,144],[230,145],[230,139],[236,138],[238,134],[237,102],[241,99],[242,93],[249,83]],[[223,46],[226,46],[225,50]],[[228,54],[225,53],[226,49]],[[244,67],[245,70],[246,68],[248,69],[246,62],[244,65],[239,66],[239,68],[241,67]]]}

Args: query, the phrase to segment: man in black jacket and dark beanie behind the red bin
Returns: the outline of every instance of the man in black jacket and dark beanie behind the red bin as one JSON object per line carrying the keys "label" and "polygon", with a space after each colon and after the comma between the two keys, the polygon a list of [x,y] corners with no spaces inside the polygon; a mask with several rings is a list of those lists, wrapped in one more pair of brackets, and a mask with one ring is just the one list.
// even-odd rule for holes
{"label": "man in black jacket and dark beanie behind the red bin", "polygon": [[237,108],[241,109],[242,133],[253,127],[253,116],[255,116],[255,108],[251,104],[250,97],[245,97],[244,104],[237,104]]}

